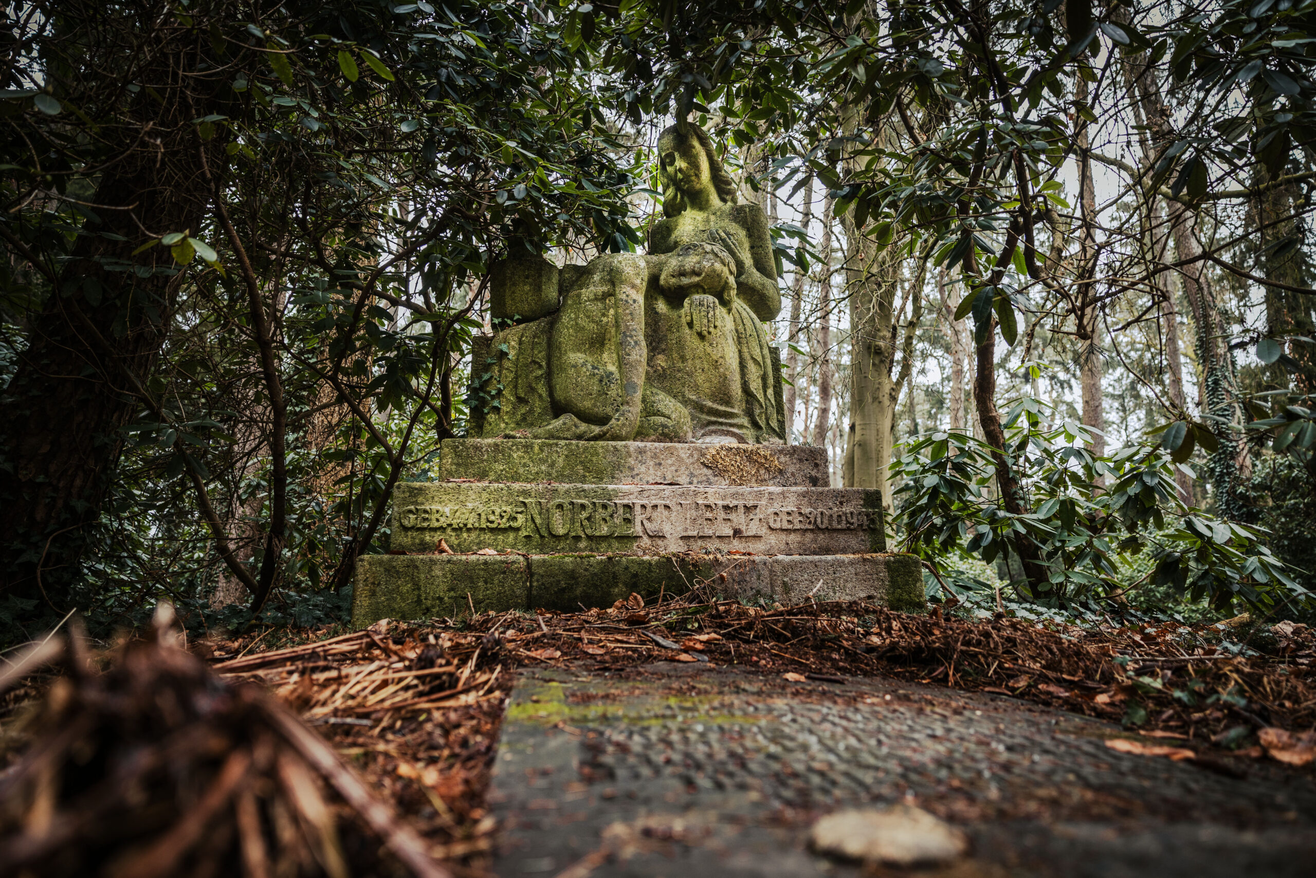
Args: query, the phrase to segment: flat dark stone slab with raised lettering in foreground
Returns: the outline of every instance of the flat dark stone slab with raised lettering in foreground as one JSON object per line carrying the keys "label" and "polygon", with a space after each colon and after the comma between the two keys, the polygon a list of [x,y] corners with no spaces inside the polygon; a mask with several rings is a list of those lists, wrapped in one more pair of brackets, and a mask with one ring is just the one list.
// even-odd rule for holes
{"label": "flat dark stone slab with raised lettering in foreground", "polygon": [[[1113,753],[1117,724],[908,681],[599,659],[521,671],[488,796],[494,874],[1308,878],[1316,862],[1316,788],[1274,762]],[[967,858],[904,871],[808,844],[820,816],[903,803],[965,832]]]}

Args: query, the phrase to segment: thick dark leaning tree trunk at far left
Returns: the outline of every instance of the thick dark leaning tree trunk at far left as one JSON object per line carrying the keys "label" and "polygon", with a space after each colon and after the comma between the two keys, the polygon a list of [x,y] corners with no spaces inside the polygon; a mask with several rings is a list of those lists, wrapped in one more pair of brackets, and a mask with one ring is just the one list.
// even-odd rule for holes
{"label": "thick dark leaning tree trunk at far left", "polygon": [[[154,46],[153,66],[138,76],[153,87],[121,124],[101,129],[124,138],[116,150],[124,157],[91,197],[101,222],[51,278],[55,290],[0,398],[0,591],[59,612],[70,608],[79,558],[113,482],[121,428],[143,408],[159,411],[147,380],[184,275],[168,247],[133,251],[170,232],[196,234],[212,195],[201,150],[212,168],[224,167],[224,140],[200,143],[191,120],[225,113],[217,95],[228,78],[191,74],[213,67],[201,57],[207,38],[183,28],[162,28],[159,38],[167,42]],[[158,140],[141,140],[143,130]]]}

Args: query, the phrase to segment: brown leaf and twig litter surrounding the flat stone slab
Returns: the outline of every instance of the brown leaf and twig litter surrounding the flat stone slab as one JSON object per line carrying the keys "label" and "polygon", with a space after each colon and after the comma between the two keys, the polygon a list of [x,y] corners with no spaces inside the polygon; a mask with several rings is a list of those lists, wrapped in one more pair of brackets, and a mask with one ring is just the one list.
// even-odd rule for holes
{"label": "brown leaf and twig litter surrounding the flat stone slab", "polygon": [[[736,665],[801,690],[890,675],[1136,721],[1138,738],[1107,742],[1121,753],[1209,767],[1220,745],[1257,741],[1242,753],[1309,766],[1316,638],[1273,632],[1265,654],[1238,657],[1200,638],[1190,652],[1186,634],[1204,629],[1178,624],[632,595],[576,613],[386,620],[267,652],[259,634],[209,669],[164,629],[95,656],[55,637],[0,679],[16,686],[0,710],[0,875],[488,874],[484,794],[522,665]],[[61,675],[32,675],[50,662]]]}

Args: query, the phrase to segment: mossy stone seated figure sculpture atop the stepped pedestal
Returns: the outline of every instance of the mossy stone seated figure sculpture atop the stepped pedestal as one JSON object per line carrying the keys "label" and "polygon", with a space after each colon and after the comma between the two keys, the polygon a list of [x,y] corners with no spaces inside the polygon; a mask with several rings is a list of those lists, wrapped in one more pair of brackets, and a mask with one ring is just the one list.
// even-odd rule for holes
{"label": "mossy stone seated figure sculpture atop the stepped pedestal", "polygon": [[783,441],[779,362],[762,324],[780,309],[767,217],[737,204],[699,126],[674,125],[658,146],[665,217],[647,255],[561,272],[519,257],[495,270],[495,317],[537,316],[554,282],[561,308],[495,336],[487,373],[476,351],[478,388],[499,391],[475,412],[482,436]]}

